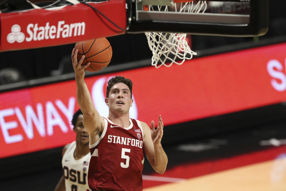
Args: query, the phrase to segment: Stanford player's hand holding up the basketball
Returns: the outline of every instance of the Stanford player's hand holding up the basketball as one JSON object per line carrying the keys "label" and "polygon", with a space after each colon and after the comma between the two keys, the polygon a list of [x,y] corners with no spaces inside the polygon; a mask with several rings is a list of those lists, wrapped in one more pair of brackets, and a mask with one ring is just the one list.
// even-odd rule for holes
{"label": "Stanford player's hand holding up the basketball", "polygon": [[73,49],[71,53],[72,66],[74,67],[75,78],[84,78],[84,69],[89,66],[89,62],[86,65],[81,65],[84,60],[84,55],[81,57],[80,61],[77,61],[78,50]]}

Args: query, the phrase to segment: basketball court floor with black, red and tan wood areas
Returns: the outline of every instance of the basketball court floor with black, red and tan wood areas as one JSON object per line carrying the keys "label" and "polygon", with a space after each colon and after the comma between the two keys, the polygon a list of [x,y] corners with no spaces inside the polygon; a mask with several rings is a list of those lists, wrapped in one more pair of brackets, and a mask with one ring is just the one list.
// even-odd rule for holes
{"label": "basketball court floor with black, red and tan wood areas", "polygon": [[144,191],[286,190],[285,133],[276,124],[168,147],[166,172],[143,175]]}

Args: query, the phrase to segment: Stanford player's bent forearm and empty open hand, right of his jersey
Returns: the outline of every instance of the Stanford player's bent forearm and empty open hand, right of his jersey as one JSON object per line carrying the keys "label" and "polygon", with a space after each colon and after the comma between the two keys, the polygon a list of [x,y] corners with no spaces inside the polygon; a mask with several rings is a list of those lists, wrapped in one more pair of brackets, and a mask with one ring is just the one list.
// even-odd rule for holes
{"label": "Stanford player's bent forearm and empty open hand, right of his jersey", "polygon": [[159,116],[158,127],[156,130],[154,121],[151,122],[151,130],[146,123],[141,122],[141,124],[144,131],[144,152],[153,169],[156,172],[163,174],[167,167],[168,158],[161,145],[164,127],[161,115]]}

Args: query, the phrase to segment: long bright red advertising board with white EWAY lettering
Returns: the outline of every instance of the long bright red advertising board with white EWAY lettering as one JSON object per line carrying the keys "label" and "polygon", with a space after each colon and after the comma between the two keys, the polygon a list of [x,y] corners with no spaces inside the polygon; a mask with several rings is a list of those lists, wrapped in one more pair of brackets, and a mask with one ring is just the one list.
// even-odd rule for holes
{"label": "long bright red advertising board with white EWAY lettering", "polygon": [[[164,125],[276,104],[286,100],[286,43],[194,58],[170,68],[144,67],[86,78],[100,115],[109,78],[133,81],[130,117]],[[0,94],[0,158],[75,140],[70,123],[74,80]],[[192,128],[192,127],[190,127]]]}

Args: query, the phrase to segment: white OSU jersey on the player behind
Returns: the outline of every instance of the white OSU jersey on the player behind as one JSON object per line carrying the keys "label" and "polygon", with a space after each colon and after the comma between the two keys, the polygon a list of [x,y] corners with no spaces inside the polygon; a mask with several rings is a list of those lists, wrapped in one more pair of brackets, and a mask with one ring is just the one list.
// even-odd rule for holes
{"label": "white OSU jersey on the player behind", "polygon": [[75,147],[76,142],[73,141],[69,144],[62,159],[66,191],[86,191],[86,189],[89,189],[87,175],[91,155],[88,153],[83,158],[75,160]]}

